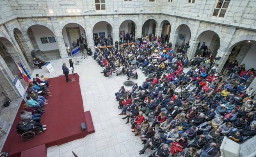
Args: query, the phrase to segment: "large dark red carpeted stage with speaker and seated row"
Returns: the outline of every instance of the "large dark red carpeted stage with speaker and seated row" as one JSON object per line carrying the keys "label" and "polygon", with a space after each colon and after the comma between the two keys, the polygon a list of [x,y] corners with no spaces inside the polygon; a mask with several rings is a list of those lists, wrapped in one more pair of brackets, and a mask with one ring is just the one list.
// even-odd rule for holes
{"label": "large dark red carpeted stage with speaker and seated row", "polygon": [[[69,75],[69,78],[72,78]],[[41,145],[46,147],[64,144],[75,139],[94,133],[94,126],[89,111],[84,112],[82,95],[79,85],[79,75],[75,75],[75,82],[66,82],[65,76],[50,78],[49,89],[52,97],[41,116],[41,123],[46,125],[46,131],[36,135],[34,139],[24,142],[21,135],[16,133],[16,124],[21,121],[20,111],[14,119],[9,135],[2,151],[9,152],[11,157],[20,157],[21,152]],[[24,101],[21,103],[23,104]],[[86,123],[86,131],[81,130],[81,123]]]}

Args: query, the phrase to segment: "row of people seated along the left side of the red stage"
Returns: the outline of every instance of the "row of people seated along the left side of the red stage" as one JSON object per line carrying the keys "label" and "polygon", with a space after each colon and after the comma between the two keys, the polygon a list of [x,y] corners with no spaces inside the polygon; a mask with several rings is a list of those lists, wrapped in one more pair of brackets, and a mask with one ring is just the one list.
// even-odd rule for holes
{"label": "row of people seated along the left side of the red stage", "polygon": [[41,124],[41,115],[46,112],[43,108],[48,104],[48,97],[51,97],[48,87],[51,85],[39,74],[29,84],[27,102],[23,104],[20,111],[21,122],[16,125],[17,132],[23,134],[27,131],[45,131],[46,125]]}

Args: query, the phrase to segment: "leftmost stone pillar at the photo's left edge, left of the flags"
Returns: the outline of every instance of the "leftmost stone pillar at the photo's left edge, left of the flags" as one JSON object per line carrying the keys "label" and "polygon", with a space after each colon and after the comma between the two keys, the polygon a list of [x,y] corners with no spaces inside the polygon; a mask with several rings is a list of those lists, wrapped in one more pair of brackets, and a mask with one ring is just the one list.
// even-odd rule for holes
{"label": "leftmost stone pillar at the photo's left edge, left of the flags", "polygon": [[0,56],[0,85],[2,86],[3,92],[11,100],[20,97],[18,90],[13,83],[13,80],[14,75],[12,75],[10,69],[5,63],[5,60]]}

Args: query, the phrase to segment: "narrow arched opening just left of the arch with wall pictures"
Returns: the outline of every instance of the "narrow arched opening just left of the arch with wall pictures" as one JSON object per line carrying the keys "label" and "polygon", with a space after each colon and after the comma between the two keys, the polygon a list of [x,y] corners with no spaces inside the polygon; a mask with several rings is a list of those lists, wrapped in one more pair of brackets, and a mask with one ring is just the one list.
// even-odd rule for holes
{"label": "narrow arched opening just left of the arch with wall pictures", "polygon": [[19,29],[16,29],[16,28],[14,29],[14,38],[15,38],[16,42],[18,43],[18,46],[20,47],[21,52],[24,55],[26,61],[32,62],[31,60],[28,60],[26,49],[29,49],[29,48],[25,41],[24,35],[21,33],[21,31]]}

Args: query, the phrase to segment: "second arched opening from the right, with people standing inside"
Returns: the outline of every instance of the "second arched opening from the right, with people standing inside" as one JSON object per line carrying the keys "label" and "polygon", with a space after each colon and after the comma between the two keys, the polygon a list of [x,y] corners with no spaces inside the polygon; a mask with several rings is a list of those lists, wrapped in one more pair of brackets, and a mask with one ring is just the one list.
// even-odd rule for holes
{"label": "second arched opening from the right, with people standing inside", "polygon": [[198,36],[197,40],[200,42],[197,46],[195,56],[206,56],[211,54],[215,57],[217,55],[217,51],[220,46],[220,39],[217,33],[214,31],[204,31]]}

